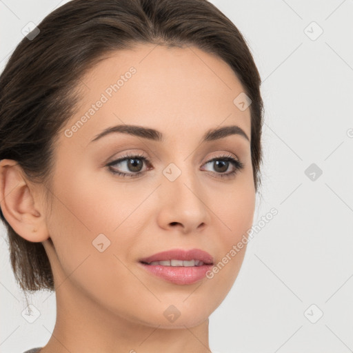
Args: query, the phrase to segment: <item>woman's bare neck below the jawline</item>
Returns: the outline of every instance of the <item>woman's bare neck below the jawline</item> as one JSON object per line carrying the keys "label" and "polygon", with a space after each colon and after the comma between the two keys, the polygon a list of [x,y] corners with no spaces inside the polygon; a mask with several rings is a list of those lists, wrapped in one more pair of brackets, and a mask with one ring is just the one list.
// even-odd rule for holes
{"label": "woman's bare neck below the jawline", "polygon": [[57,321],[41,353],[211,352],[208,319],[193,327],[145,323],[128,312],[114,313],[75,289],[70,279],[56,288],[56,296]]}

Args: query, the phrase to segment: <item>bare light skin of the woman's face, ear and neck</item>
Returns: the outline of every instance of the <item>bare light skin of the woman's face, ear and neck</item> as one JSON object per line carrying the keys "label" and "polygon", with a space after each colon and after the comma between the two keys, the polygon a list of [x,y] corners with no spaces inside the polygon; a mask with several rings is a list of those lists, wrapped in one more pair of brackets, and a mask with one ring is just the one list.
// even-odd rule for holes
{"label": "bare light skin of the woman's face, ear and neck", "polygon": [[[232,134],[201,143],[207,130],[228,125],[250,139],[250,109],[233,103],[244,89],[232,69],[195,47],[154,47],[114,52],[83,77],[81,105],[63,131],[121,74],[137,70],[72,137],[59,132],[50,207],[43,184],[30,183],[16,161],[1,161],[3,213],[24,239],[43,243],[54,274],[57,321],[42,353],[210,352],[208,317],[241,268],[245,245],[213,279],[192,285],[139,266],[173,248],[199,248],[219,263],[251,228],[256,194],[250,141]],[[115,133],[90,143],[123,123],[159,130],[165,141]],[[144,174],[110,172],[106,164],[126,152],[148,159]],[[233,177],[208,163],[223,154],[244,165]],[[170,163],[181,170],[175,181],[163,174]],[[128,167],[114,165],[133,173]],[[230,163],[223,174],[232,170]],[[92,246],[101,233],[111,242],[103,252]],[[170,305],[180,312],[174,322],[163,315]]]}

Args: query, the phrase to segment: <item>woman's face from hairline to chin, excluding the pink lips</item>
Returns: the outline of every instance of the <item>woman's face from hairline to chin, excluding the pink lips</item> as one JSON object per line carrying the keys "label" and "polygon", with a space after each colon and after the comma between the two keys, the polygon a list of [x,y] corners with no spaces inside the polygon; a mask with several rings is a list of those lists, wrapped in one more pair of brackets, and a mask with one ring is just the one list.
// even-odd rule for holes
{"label": "woman's face from hairline to chin, excluding the pink lips", "polygon": [[[139,45],[97,64],[81,90],[54,150],[52,250],[44,243],[57,283],[65,279],[57,297],[88,298],[144,325],[202,323],[236,279],[245,245],[230,253],[254,214],[250,109],[233,103],[241,83],[225,62],[195,47]],[[117,125],[158,132],[120,128],[99,137]],[[228,126],[237,128],[203,141]],[[212,278],[177,283],[139,262],[174,249],[208,252],[209,269],[223,265]],[[165,310],[180,316],[169,321]]]}

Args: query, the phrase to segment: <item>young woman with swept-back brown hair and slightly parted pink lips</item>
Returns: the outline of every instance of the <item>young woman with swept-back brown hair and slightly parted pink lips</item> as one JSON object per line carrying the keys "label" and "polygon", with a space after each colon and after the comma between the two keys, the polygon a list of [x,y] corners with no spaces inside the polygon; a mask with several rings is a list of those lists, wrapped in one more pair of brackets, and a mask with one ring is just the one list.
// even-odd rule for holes
{"label": "young woman with swept-back brown hair and slightly parted pink lips", "polygon": [[30,352],[210,352],[259,190],[260,83],[205,0],[74,0],[19,43],[1,219],[23,291],[57,298]]}

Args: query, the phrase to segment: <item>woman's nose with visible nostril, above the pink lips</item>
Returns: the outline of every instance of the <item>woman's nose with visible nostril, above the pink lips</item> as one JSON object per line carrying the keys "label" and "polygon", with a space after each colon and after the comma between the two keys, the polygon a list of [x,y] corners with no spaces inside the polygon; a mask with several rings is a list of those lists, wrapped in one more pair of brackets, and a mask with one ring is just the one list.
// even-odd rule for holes
{"label": "woman's nose with visible nostril, above the pink lips", "polygon": [[183,234],[199,232],[210,221],[203,185],[194,172],[183,170],[174,181],[163,179],[159,188],[157,222],[165,230],[180,230]]}

